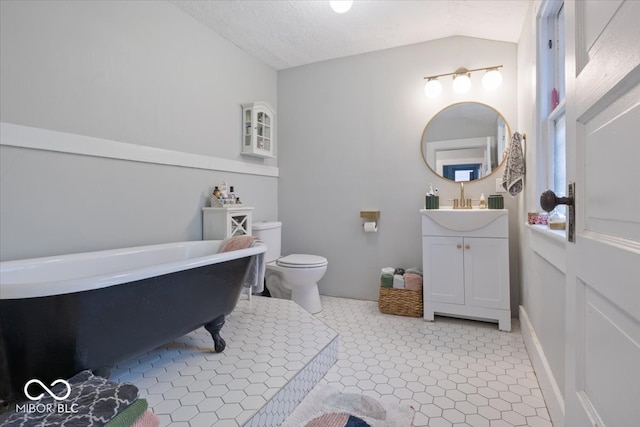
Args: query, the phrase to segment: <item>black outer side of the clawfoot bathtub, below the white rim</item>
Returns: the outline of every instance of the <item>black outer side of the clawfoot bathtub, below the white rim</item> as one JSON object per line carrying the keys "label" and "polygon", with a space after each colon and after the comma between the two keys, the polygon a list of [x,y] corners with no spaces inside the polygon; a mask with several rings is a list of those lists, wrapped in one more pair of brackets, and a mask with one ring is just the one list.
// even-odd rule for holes
{"label": "black outer side of the clawfoot bathtub, below the white rim", "polygon": [[[49,385],[85,369],[106,376],[117,363],[201,326],[215,337],[240,298],[250,259],[89,291],[0,300],[0,399],[23,399],[32,378]],[[224,341],[216,341],[215,350],[222,351]]]}

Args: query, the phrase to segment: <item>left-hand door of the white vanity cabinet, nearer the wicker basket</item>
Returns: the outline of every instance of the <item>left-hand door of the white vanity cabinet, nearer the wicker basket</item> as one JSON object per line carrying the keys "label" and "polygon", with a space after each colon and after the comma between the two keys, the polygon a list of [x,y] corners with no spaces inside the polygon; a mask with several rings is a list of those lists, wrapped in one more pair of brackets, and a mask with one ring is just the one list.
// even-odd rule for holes
{"label": "left-hand door of the white vanity cabinet, nearer the wicker basket", "polygon": [[425,304],[464,304],[464,270],[461,237],[422,238]]}

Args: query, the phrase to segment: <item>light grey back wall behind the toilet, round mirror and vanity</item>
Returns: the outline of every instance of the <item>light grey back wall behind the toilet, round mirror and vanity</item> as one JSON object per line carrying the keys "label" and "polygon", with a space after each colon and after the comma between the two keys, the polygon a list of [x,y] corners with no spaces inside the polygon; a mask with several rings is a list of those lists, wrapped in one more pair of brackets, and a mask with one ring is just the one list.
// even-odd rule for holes
{"label": "light grey back wall behind the toilet, round mirror and vanity", "polygon": [[[474,88],[466,95],[453,94],[449,79],[443,79],[438,99],[424,95],[424,76],[499,64],[504,81],[495,92],[485,92],[482,73],[474,73]],[[328,258],[322,294],[376,300],[381,267],[421,266],[418,211],[429,183],[439,187],[443,204],[459,196],[459,187],[429,171],[420,140],[426,123],[459,101],[492,105],[517,130],[516,45],[452,37],[278,73],[283,251]],[[501,176],[502,169],[466,185],[466,194],[478,199],[494,193],[494,178]],[[506,196],[506,207],[516,207],[515,200]],[[361,210],[381,211],[377,234],[362,231]],[[513,258],[516,222],[511,232]],[[515,315],[519,287],[513,261]]]}

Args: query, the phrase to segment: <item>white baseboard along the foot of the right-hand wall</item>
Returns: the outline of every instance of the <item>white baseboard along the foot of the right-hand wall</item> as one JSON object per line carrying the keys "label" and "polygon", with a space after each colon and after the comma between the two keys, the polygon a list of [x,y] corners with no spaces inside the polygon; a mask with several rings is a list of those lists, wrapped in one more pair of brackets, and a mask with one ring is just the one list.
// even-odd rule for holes
{"label": "white baseboard along the foot of the right-hand wall", "polygon": [[562,391],[551,371],[536,331],[533,329],[527,311],[523,306],[520,306],[519,313],[522,339],[524,340],[524,345],[527,347],[527,352],[531,358],[536,377],[538,377],[538,383],[540,384],[544,401],[547,404],[549,416],[551,417],[554,427],[564,427],[564,397]]}

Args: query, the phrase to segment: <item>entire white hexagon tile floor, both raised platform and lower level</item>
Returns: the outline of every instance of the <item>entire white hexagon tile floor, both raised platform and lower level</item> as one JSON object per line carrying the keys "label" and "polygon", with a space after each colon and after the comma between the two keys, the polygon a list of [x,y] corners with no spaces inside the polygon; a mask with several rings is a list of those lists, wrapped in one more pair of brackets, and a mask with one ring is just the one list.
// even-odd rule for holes
{"label": "entire white hexagon tile floor, both raised platform and lower level", "polygon": [[502,332],[381,314],[375,301],[322,304],[314,317],[291,301],[243,299],[222,329],[224,353],[201,328],[112,378],[136,384],[170,427],[278,425],[318,380],[410,405],[416,427],[552,425],[517,322]]}

